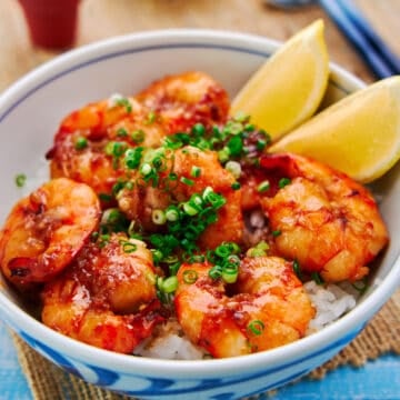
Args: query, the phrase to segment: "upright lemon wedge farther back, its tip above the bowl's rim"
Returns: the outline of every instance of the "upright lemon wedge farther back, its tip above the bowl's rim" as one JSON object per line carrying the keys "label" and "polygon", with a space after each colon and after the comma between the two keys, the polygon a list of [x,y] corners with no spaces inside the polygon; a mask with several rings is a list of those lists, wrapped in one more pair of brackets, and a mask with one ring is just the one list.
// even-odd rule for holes
{"label": "upright lemon wedge farther back, its tip above the bowl's rim", "polygon": [[276,140],[312,116],[328,84],[329,58],[323,21],[289,39],[243,86],[231,116],[251,116]]}

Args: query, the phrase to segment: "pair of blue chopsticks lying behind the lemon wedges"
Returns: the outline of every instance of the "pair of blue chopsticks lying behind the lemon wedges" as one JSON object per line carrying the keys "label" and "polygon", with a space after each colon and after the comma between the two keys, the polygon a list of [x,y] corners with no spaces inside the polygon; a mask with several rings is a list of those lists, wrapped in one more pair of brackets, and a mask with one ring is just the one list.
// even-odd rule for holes
{"label": "pair of blue chopsticks lying behind the lemon wedges", "polygon": [[356,46],[378,79],[400,73],[400,61],[350,0],[319,0],[330,18]]}

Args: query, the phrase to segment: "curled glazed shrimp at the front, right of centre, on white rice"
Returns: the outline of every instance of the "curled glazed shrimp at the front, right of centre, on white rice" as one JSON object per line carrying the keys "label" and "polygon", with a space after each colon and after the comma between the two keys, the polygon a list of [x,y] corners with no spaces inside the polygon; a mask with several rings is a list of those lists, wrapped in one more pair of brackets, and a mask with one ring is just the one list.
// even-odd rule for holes
{"label": "curled glazed shrimp at the front, right of centre, on white rice", "polygon": [[[314,309],[291,262],[246,258],[230,288],[221,279],[212,280],[210,268],[184,264],[178,272],[177,317],[194,344],[224,358],[271,349],[306,334]],[[188,274],[197,280],[187,283]]]}

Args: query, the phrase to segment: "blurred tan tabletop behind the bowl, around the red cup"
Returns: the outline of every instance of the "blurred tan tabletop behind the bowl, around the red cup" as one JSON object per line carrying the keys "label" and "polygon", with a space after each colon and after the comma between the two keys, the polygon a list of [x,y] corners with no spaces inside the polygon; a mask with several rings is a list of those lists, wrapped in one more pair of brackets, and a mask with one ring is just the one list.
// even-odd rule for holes
{"label": "blurred tan tabletop behind the bowl, around the red cup", "polygon": [[[36,9],[46,1],[49,0],[31,0]],[[71,1],[74,2],[57,0],[57,3]],[[400,27],[400,1],[353,2],[390,49],[400,56],[400,41],[393,33]],[[232,30],[283,41],[314,19],[323,18],[331,60],[366,81],[376,79],[342,31],[316,3],[290,9],[273,7],[266,0],[80,0],[78,3],[74,47],[113,36],[168,28]],[[19,1],[1,0],[0,16],[0,37],[4,38],[0,43],[2,90],[64,49],[49,50],[32,44]]]}

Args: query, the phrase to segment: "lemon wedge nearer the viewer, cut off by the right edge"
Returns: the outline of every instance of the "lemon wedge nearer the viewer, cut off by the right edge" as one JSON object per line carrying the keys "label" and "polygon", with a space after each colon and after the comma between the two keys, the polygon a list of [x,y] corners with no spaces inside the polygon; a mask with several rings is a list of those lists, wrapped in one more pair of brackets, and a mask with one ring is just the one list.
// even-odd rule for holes
{"label": "lemon wedge nearer the viewer, cut off by the right edge", "polygon": [[400,159],[400,76],[339,100],[268,151],[309,156],[364,183],[381,177]]}

